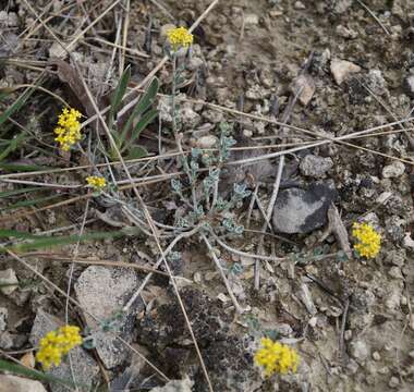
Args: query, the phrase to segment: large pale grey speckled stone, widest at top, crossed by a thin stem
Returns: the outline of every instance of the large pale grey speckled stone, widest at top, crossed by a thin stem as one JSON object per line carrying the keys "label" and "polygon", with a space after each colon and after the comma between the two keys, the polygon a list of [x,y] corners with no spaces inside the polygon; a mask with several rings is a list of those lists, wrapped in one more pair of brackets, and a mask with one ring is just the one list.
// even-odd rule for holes
{"label": "large pale grey speckled stone, widest at top, crossed by a thin stem", "polygon": [[[135,271],[125,268],[88,267],[75,283],[77,301],[85,310],[85,320],[96,342],[96,351],[107,368],[121,365],[130,356],[117,336],[132,341],[135,317],[143,309],[138,298],[127,314],[117,317],[138,287]],[[102,322],[98,323],[92,314]],[[108,326],[104,331],[102,324]]]}

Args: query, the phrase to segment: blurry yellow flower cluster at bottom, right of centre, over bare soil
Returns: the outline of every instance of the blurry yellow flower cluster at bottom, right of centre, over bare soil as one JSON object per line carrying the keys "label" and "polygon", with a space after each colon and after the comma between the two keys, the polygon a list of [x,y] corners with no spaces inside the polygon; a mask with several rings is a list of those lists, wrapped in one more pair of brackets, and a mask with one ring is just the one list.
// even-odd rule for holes
{"label": "blurry yellow flower cluster at bottom, right of centre, over bare soil", "polygon": [[255,354],[255,364],[264,367],[266,376],[295,372],[297,363],[299,355],[294,348],[273,342],[269,338],[261,339],[261,347]]}

